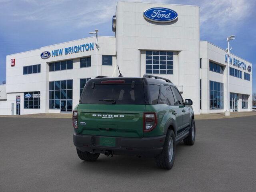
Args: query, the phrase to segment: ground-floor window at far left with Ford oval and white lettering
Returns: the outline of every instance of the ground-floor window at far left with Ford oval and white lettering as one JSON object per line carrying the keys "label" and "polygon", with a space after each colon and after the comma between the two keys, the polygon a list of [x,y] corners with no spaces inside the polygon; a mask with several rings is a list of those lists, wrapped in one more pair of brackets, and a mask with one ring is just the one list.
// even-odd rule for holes
{"label": "ground-floor window at far left with Ford oval and white lettering", "polygon": [[24,92],[24,109],[40,109],[40,91]]}

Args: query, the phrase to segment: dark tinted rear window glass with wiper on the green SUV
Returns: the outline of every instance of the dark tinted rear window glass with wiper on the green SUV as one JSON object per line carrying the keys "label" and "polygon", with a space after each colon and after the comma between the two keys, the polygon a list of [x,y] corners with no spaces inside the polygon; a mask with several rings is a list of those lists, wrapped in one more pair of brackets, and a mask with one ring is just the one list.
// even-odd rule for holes
{"label": "dark tinted rear window glass with wiper on the green SUV", "polygon": [[[104,101],[105,100],[105,101]],[[145,104],[142,84],[86,85],[80,104]]]}

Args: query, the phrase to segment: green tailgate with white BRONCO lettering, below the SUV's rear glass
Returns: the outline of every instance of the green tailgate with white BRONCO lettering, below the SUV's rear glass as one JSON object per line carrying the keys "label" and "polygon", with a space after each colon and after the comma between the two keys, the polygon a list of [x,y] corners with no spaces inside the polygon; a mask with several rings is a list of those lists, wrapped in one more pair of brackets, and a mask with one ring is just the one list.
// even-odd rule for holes
{"label": "green tailgate with white BRONCO lettering, below the SUV's rear glass", "polygon": [[145,105],[79,104],[77,110],[80,134],[134,138],[143,136]]}

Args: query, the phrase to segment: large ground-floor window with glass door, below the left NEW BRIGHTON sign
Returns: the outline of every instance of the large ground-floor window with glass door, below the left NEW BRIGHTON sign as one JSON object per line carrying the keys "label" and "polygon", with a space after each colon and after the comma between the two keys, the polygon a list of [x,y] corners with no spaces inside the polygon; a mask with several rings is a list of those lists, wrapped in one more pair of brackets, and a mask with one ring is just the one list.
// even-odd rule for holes
{"label": "large ground-floor window with glass door, below the left NEW BRIGHTON sign", "polygon": [[[49,109],[60,109],[60,101],[72,105],[72,92],[73,80],[49,82]],[[63,111],[72,111],[72,106],[65,105]]]}

